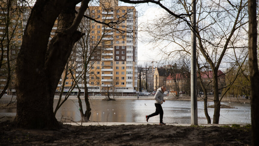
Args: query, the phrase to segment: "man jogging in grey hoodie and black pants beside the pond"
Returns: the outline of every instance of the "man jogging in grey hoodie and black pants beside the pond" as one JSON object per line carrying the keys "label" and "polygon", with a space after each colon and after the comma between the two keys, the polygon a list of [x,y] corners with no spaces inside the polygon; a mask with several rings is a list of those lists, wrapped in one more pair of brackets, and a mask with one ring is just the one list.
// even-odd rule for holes
{"label": "man jogging in grey hoodie and black pants beside the pond", "polygon": [[148,119],[152,116],[157,116],[159,114],[160,116],[160,122],[159,122],[159,125],[165,125],[165,123],[163,123],[163,114],[164,114],[164,111],[162,109],[162,106],[161,104],[163,103],[163,101],[165,102],[164,100],[164,91],[166,90],[166,87],[165,86],[162,86],[160,88],[158,88],[155,96],[154,96],[154,99],[156,100],[155,101],[155,107],[156,107],[156,111],[154,113],[152,113],[151,115],[148,115],[146,116],[146,121],[148,122]]}

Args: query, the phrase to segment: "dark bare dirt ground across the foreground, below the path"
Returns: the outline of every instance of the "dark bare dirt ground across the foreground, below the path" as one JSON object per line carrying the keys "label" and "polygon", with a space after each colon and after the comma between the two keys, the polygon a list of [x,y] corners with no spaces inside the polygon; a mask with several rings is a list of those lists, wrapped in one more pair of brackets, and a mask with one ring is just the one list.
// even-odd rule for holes
{"label": "dark bare dirt ground across the foreground, below the path", "polygon": [[172,125],[72,126],[14,129],[0,123],[0,145],[251,145],[251,127]]}

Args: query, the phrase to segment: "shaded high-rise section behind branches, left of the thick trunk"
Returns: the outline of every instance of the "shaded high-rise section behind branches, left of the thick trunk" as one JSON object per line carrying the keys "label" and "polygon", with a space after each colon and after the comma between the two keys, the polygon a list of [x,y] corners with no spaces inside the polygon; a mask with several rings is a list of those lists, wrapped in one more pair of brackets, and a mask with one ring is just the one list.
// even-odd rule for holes
{"label": "shaded high-rise section behind branches, left of the thick trunk", "polygon": [[15,94],[14,68],[29,10],[17,9],[16,1],[2,1],[0,5],[0,92],[12,95]]}

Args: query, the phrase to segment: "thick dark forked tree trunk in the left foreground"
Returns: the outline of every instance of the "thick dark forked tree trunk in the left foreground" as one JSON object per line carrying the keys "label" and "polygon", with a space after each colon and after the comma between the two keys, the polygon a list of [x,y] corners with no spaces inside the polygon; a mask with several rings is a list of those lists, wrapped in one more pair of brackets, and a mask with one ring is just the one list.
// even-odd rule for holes
{"label": "thick dark forked tree trunk in the left foreground", "polygon": [[[13,124],[17,127],[59,127],[53,113],[55,89],[74,43],[82,36],[76,29],[67,31],[75,18],[75,5],[64,0],[38,0],[31,11],[15,72],[17,114]],[[58,33],[48,45],[59,14]]]}

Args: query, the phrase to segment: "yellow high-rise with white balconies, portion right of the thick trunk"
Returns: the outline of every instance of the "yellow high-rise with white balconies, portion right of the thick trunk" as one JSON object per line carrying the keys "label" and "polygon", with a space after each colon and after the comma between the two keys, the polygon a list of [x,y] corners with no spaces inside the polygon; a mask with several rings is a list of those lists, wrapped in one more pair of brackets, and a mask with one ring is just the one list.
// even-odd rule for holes
{"label": "yellow high-rise with white balconies, portion right of the thick trunk", "polygon": [[[118,0],[101,0],[99,6],[90,6],[86,15],[94,19],[82,20],[85,21],[82,25],[86,30],[85,42],[90,59],[86,74],[88,93],[94,95],[105,93],[107,90],[115,93],[136,93],[138,12],[134,7],[118,6]],[[86,46],[76,46],[78,50],[85,49],[83,47]],[[82,60],[80,53],[74,57],[77,65],[73,76],[77,77],[82,72],[85,60]],[[61,90],[64,76],[65,71],[56,91]],[[64,92],[68,92],[74,84],[71,74],[67,75],[65,80]],[[79,83],[81,92],[84,92],[83,80]],[[77,87],[72,90],[72,93],[76,92]]]}

